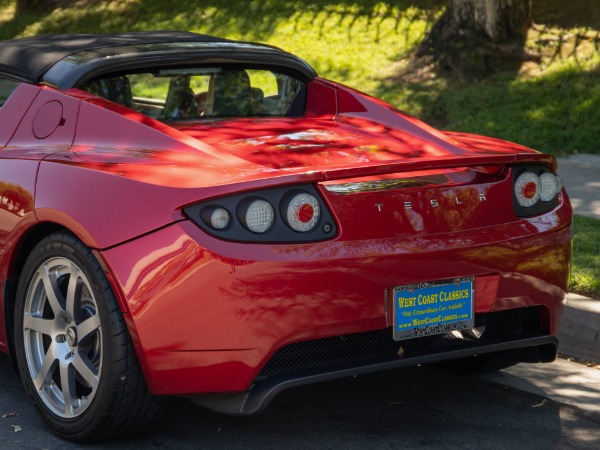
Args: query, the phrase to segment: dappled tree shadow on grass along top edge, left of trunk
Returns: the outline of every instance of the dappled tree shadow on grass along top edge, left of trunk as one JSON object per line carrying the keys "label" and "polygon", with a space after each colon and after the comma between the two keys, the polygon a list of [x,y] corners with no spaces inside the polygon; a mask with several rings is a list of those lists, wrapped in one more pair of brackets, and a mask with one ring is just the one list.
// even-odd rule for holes
{"label": "dappled tree shadow on grass along top edge, left of trunk", "polygon": [[[88,0],[72,2],[77,7],[58,8],[46,16],[13,17],[2,24],[2,37],[10,39],[22,33],[28,25],[39,22],[36,34],[118,32],[151,29],[202,29],[207,33],[222,34],[231,30],[247,39],[262,40],[271,36],[281,22],[287,22],[299,11],[312,14],[318,20],[321,14],[335,11],[340,22],[369,18],[377,27],[383,20],[396,16],[397,23],[403,15],[397,10],[418,9],[429,11],[443,0],[263,0],[251,2],[203,1],[129,1],[109,2]],[[14,0],[0,0],[0,6],[9,8]],[[383,7],[382,5],[387,5]],[[396,9],[397,8],[397,9]],[[73,20],[77,19],[77,20]],[[95,30],[95,31],[91,31]]]}

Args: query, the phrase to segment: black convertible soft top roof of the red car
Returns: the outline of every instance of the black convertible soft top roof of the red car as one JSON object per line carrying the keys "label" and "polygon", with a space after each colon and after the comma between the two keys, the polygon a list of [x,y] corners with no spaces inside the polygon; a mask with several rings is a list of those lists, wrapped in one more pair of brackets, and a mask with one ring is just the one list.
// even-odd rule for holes
{"label": "black convertible soft top roof of the red car", "polygon": [[[145,31],[119,34],[47,34],[10,41],[0,42],[0,74],[30,83],[46,82],[60,88],[69,88],[81,82],[91,72],[97,75],[102,68],[107,70],[115,68],[115,61],[120,64],[136,64],[136,53],[140,53],[140,61],[144,64],[161,65],[165,63],[181,63],[182,58],[187,58],[194,53],[193,48],[186,48],[181,44],[197,43],[196,61],[202,61],[209,56],[212,60],[252,61],[252,55],[272,59],[279,65],[289,65],[299,70],[309,78],[316,76],[314,70],[303,60],[276,47],[253,44],[229,39],[191,33],[187,31]],[[160,47],[148,49],[152,44]],[[174,45],[171,49],[169,44]],[[180,44],[175,47],[175,44]],[[149,58],[151,53],[155,57]],[[172,50],[177,50],[173,53]],[[162,56],[159,53],[163,53]],[[144,56],[144,53],[146,55]],[[80,58],[71,58],[79,54]],[[172,57],[167,57],[173,54]],[[116,58],[115,58],[116,57]],[[121,58],[119,58],[121,57]],[[236,59],[237,58],[237,59]],[[50,70],[53,69],[53,70]],[[50,71],[50,72],[49,72]]]}

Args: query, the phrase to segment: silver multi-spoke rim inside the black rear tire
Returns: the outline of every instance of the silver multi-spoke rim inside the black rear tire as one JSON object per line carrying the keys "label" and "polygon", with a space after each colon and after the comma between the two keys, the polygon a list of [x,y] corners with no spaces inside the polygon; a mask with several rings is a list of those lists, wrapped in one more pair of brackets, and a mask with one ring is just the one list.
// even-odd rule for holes
{"label": "silver multi-spoke rim inside the black rear tire", "polygon": [[62,418],[82,414],[100,381],[102,330],[91,284],[73,261],[50,258],[37,268],[25,299],[23,343],[44,404]]}

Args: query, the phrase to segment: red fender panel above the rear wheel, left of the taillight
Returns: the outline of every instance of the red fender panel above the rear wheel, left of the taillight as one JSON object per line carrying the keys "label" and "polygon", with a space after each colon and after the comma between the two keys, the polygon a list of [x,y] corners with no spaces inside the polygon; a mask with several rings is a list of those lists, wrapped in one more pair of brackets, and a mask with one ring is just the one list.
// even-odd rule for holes
{"label": "red fender panel above the rear wheel, left of the taillight", "polygon": [[182,220],[165,191],[107,172],[44,161],[36,217],[71,230],[90,248],[105,249]]}

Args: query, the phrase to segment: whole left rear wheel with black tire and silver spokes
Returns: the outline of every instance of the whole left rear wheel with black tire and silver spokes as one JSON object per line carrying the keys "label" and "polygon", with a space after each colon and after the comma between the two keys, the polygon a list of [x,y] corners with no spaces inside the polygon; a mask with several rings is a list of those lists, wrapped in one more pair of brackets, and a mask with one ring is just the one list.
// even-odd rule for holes
{"label": "whole left rear wheel with black tire and silver spokes", "polygon": [[92,252],[68,232],[31,252],[15,304],[27,394],[57,435],[77,442],[139,431],[163,401],[148,392],[115,295]]}

